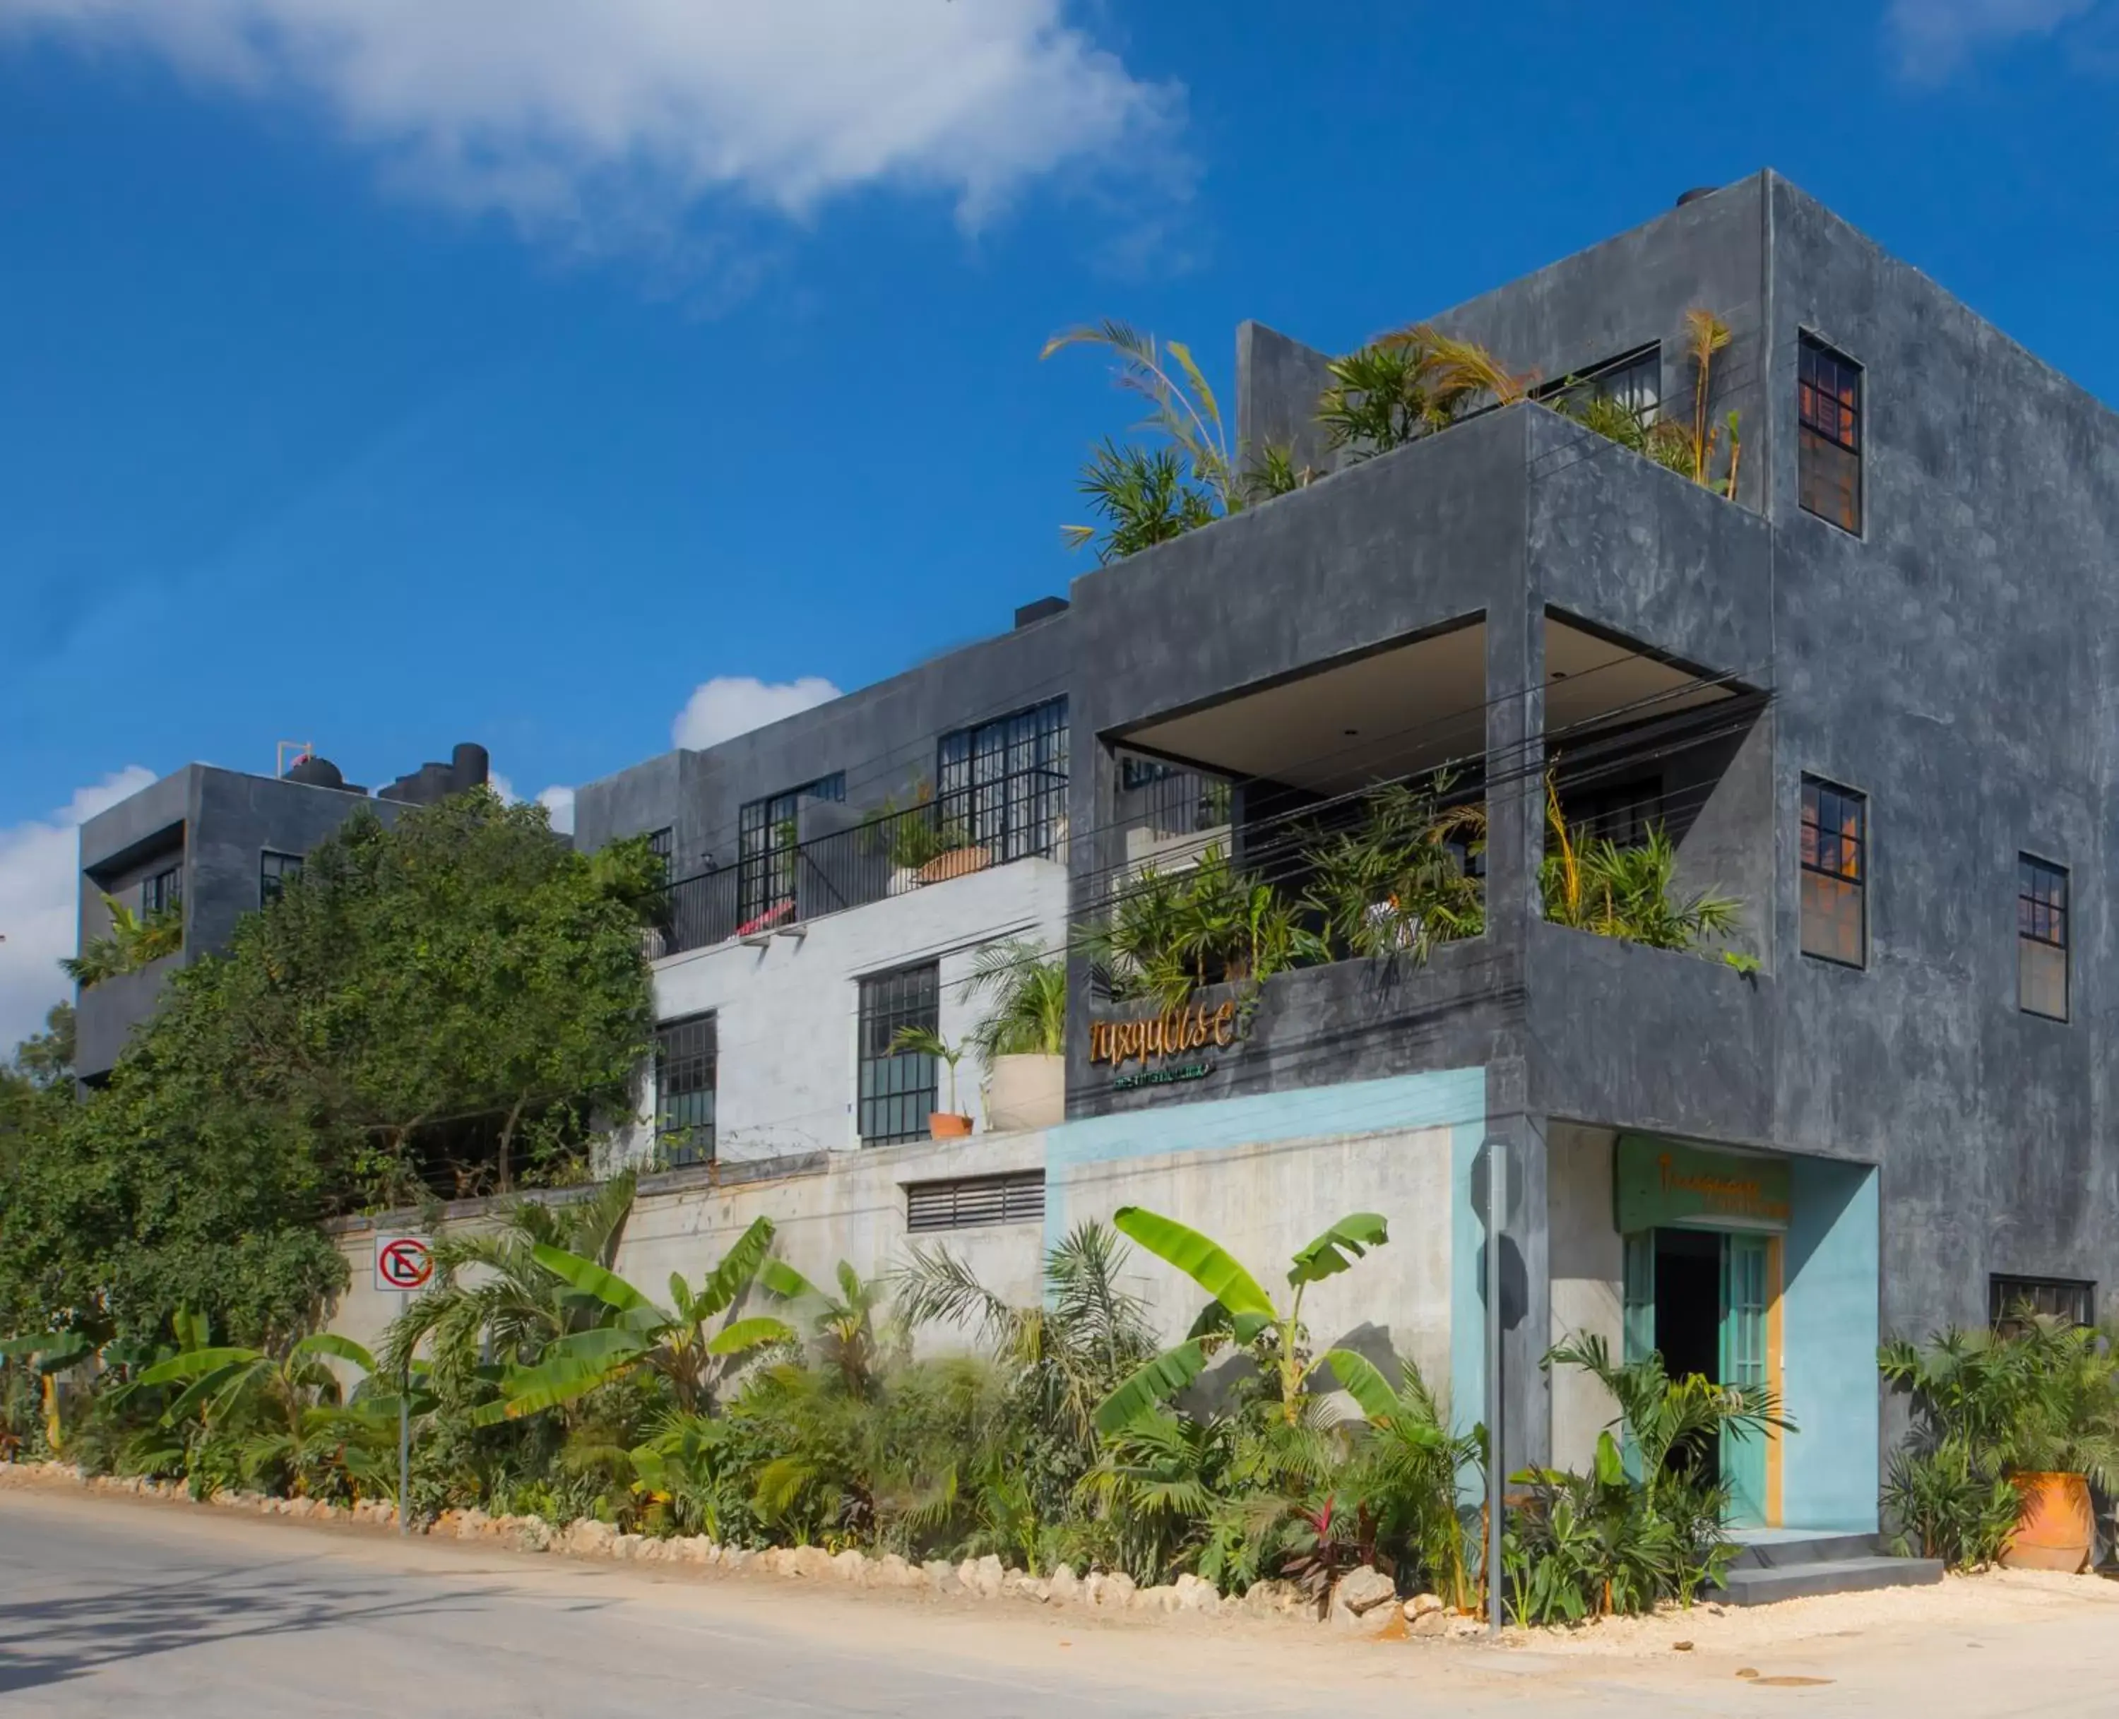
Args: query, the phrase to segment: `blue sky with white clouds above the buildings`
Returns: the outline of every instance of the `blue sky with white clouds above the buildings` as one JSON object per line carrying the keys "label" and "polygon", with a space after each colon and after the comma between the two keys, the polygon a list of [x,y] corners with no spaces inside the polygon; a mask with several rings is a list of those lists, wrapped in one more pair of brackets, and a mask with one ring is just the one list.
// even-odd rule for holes
{"label": "blue sky with white clouds above the buildings", "polygon": [[0,1043],[148,772],[536,795],[1064,589],[1070,322],[1225,377],[1774,165],[2119,398],[2119,0],[1498,13],[0,0]]}

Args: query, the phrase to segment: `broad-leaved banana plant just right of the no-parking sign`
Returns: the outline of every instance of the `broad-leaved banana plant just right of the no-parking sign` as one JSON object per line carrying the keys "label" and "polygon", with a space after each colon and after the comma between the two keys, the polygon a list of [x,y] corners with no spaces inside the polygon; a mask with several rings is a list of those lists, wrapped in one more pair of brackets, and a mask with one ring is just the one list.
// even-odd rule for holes
{"label": "broad-leaved banana plant just right of the no-parking sign", "polygon": [[756,1219],[697,1291],[682,1272],[670,1274],[670,1306],[661,1308],[617,1272],[578,1253],[540,1242],[532,1257],[562,1278],[595,1323],[545,1344],[534,1365],[500,1378],[500,1399],[473,1412],[477,1426],[519,1420],[570,1403],[598,1386],[646,1369],[670,1382],[680,1414],[706,1414],[729,1374],[759,1348],[795,1342],[778,1318],[727,1318],[773,1244],[771,1219]]}

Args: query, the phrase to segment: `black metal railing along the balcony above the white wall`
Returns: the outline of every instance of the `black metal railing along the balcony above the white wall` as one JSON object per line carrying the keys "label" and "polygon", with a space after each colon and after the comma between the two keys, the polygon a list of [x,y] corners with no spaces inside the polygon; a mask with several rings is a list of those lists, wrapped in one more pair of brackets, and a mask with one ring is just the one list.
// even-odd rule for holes
{"label": "black metal railing along the balcony above the white wall", "polygon": [[[1066,863],[1066,822],[1049,827],[1043,837],[1030,852],[1009,858]],[[678,878],[663,890],[648,931],[648,958],[710,950],[742,937],[771,937],[786,926],[1004,863],[994,846],[975,841],[962,822],[932,803],[799,841],[780,861],[778,888],[763,903],[754,888],[744,888],[742,865]]]}

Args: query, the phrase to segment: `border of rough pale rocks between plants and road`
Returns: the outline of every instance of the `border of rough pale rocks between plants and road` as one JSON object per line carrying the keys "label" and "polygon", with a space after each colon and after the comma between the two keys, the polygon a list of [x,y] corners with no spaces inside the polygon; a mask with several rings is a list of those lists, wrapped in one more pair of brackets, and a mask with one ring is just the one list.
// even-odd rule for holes
{"label": "border of rough pale rocks between plants and road", "polygon": [[[191,1496],[191,1488],[174,1479],[85,1475],[72,1463],[0,1463],[0,1486],[49,1486],[53,1482],[72,1484],[85,1492],[199,1503]],[[358,1505],[326,1505],[316,1499],[271,1499],[263,1492],[214,1492],[206,1503],[216,1509],[250,1511],[252,1516],[290,1516],[299,1522],[341,1522],[396,1530],[396,1507],[379,1499]],[[852,1547],[839,1554],[831,1554],[820,1545],[754,1552],[742,1545],[718,1545],[706,1535],[674,1535],[667,1539],[621,1535],[608,1522],[587,1518],[570,1522],[566,1528],[555,1528],[542,1516],[487,1516],[483,1509],[447,1509],[432,1522],[417,1524],[415,1530],[430,1539],[489,1541],[511,1552],[547,1552],[564,1558],[634,1564],[693,1564],[731,1573],[778,1575],[797,1581],[839,1581],[850,1588],[896,1588],[975,1600],[1013,1598],[1034,1605],[1125,1613],[1129,1617],[1271,1617],[1316,1630],[1352,1630],[1367,1636],[1485,1634],[1485,1626],[1477,1617],[1445,1615],[1443,1602],[1432,1594],[1407,1600],[1401,1617],[1399,1605],[1382,1605],[1382,1598],[1394,1600],[1394,1594],[1367,1592],[1375,1588],[1375,1581],[1360,1583],[1363,1594],[1352,1607],[1335,1594],[1333,1607],[1320,1619],[1316,1607],[1288,1581],[1257,1581],[1242,1596],[1225,1596],[1214,1583],[1201,1581],[1197,1575],[1180,1575],[1176,1581],[1159,1588],[1140,1588],[1121,1571],[1076,1575],[1062,1564],[1051,1575],[1030,1575],[1028,1571],[1009,1569],[992,1554],[985,1558],[966,1558],[960,1564],[945,1560],[913,1564],[894,1552],[871,1558]],[[1352,1575],[1375,1577],[1373,1571],[1356,1571]],[[1439,1617],[1445,1619],[1447,1628],[1435,1624]],[[1407,1624],[1413,1628],[1407,1630]]]}

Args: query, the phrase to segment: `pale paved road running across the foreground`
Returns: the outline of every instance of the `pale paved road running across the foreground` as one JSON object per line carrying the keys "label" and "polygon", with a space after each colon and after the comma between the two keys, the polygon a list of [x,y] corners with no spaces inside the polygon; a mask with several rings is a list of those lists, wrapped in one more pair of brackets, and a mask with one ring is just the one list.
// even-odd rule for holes
{"label": "pale paved road running across the foreground", "polygon": [[1767,1662],[1805,1681],[1761,1687],[1710,1653],[1193,1634],[0,1492],[0,1719],[2119,1713],[2119,1609],[1945,1634],[1820,1641]]}

